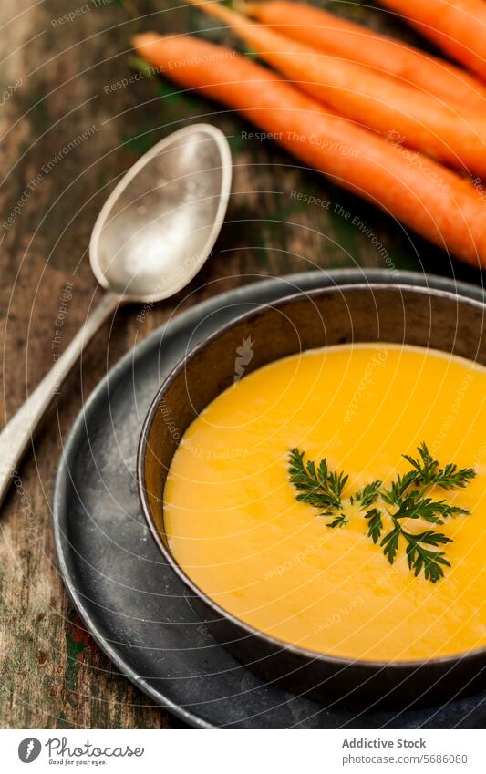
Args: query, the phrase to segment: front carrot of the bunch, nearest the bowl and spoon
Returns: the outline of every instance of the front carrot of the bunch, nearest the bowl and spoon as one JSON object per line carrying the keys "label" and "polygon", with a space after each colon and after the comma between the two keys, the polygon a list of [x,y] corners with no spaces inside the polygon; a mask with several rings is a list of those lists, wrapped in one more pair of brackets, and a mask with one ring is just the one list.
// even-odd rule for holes
{"label": "front carrot of the bunch, nearest the bowl and spoon", "polygon": [[270,70],[193,36],[136,36],[140,57],[179,86],[239,111],[336,184],[449,250],[486,268],[481,195],[469,181],[412,150],[326,111]]}

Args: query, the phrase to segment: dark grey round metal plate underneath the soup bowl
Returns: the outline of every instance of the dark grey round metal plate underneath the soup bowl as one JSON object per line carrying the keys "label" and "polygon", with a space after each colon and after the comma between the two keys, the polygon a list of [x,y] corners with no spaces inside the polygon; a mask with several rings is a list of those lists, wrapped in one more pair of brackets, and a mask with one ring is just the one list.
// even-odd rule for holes
{"label": "dark grey round metal plate underneath the soup bowl", "polygon": [[135,461],[160,381],[188,348],[257,304],[330,284],[429,285],[484,300],[479,287],[386,270],[293,274],[191,308],[136,346],[98,385],[57,473],[57,558],[102,650],[154,701],[199,728],[484,728],[486,692],[446,707],[392,712],[316,704],[265,684],[213,639],[162,561],[140,514]]}

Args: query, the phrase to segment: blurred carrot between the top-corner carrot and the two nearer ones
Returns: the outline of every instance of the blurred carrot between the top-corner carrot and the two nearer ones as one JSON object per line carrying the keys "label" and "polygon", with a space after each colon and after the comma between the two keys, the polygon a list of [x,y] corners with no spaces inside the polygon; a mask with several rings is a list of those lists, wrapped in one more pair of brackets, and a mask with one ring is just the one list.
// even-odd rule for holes
{"label": "blurred carrot between the top-corner carrot and the two nearer ones", "polygon": [[486,108],[486,88],[466,70],[432,57],[401,40],[380,35],[321,8],[288,0],[237,3],[234,7],[253,16],[275,32],[327,54],[374,67],[410,86],[469,108]]}

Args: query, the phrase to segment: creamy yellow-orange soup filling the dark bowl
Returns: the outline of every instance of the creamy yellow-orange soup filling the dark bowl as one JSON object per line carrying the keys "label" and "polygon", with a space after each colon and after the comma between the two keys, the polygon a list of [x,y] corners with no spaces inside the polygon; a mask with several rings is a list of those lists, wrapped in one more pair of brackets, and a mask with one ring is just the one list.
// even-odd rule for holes
{"label": "creamy yellow-orange soup filling the dark bowl", "polygon": [[[485,398],[484,368],[419,347],[336,346],[265,366],[185,433],[165,488],[171,550],[217,604],[287,643],[386,660],[486,645]],[[453,542],[437,583],[410,572],[403,546],[390,565],[353,506],[329,529],[287,470],[293,447],[326,457],[348,472],[348,498],[408,470],[401,455],[422,440],[441,465],[476,471],[439,492],[470,515],[439,528]]]}

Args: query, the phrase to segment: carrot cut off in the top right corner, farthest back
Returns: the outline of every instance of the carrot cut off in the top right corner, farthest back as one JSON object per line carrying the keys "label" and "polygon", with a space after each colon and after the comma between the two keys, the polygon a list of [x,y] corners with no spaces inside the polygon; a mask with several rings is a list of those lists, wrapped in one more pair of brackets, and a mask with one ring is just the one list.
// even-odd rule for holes
{"label": "carrot cut off in the top right corner, farthest back", "polygon": [[450,57],[486,79],[484,0],[380,0]]}

